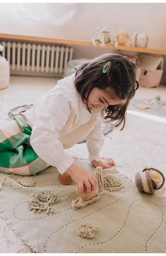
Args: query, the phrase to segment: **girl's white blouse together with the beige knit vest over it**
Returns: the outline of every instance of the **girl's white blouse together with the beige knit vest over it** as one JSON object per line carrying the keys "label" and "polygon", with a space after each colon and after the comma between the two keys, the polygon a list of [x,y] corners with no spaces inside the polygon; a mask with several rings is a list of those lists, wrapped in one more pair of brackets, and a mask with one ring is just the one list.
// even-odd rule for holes
{"label": "girl's white blouse together with the beige knit vest over it", "polygon": [[59,80],[51,91],[25,112],[32,128],[32,148],[42,160],[57,167],[60,173],[64,173],[74,162],[65,148],[85,138],[89,160],[101,160],[100,150],[104,142],[101,111],[88,111],[74,87],[74,79],[75,74],[71,74]]}

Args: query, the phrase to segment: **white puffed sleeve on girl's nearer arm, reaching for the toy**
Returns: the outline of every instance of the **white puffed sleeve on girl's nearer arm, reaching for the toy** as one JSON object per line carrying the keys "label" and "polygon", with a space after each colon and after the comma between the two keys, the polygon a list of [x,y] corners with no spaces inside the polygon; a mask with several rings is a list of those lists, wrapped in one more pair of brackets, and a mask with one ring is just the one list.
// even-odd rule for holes
{"label": "white puffed sleeve on girl's nearer arm, reaching for the toy", "polygon": [[57,167],[62,174],[74,162],[59,141],[59,131],[70,115],[69,101],[61,94],[47,95],[40,102],[38,113],[40,116],[33,123],[30,144],[42,160]]}

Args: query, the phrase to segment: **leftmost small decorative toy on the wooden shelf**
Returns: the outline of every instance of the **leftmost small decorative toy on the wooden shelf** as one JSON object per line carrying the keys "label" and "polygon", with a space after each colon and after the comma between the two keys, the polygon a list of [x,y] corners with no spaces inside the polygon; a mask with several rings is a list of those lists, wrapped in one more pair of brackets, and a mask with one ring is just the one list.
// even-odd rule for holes
{"label": "leftmost small decorative toy on the wooden shelf", "polygon": [[110,43],[110,35],[109,30],[107,28],[100,29],[97,27],[98,35],[97,38],[92,38],[93,45],[96,45],[96,43],[101,43],[100,46],[105,47],[105,43]]}

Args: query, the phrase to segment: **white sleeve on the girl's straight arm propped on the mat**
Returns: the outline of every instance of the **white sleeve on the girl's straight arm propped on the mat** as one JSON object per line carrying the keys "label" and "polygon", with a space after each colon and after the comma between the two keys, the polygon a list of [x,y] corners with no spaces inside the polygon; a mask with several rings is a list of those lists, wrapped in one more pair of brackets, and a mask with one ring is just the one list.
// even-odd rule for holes
{"label": "white sleeve on the girl's straight arm propped on the mat", "polygon": [[90,161],[102,160],[102,157],[100,157],[100,150],[102,149],[104,140],[104,135],[102,135],[102,118],[100,118],[93,130],[91,130],[86,137]]}

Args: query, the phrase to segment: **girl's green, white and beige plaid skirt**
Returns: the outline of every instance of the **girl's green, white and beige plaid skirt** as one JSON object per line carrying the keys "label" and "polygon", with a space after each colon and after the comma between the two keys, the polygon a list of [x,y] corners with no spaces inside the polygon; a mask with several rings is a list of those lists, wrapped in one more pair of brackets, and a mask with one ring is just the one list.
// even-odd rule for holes
{"label": "girl's green, white and beige plaid skirt", "polygon": [[31,133],[21,114],[0,126],[0,172],[35,175],[49,166],[32,149]]}

